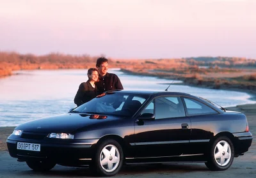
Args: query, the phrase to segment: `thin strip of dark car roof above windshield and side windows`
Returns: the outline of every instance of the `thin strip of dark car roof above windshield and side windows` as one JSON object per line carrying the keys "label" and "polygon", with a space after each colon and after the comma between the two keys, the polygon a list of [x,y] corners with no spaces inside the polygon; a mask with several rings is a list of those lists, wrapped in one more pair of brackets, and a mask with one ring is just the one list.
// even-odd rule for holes
{"label": "thin strip of dark car roof above windshield and side windows", "polygon": [[124,90],[115,90],[110,92],[116,92],[116,93],[134,93],[134,94],[147,94],[147,95],[179,95],[179,96],[192,96],[188,93],[181,93],[181,92],[173,92],[173,91],[162,91],[162,90],[145,90],[145,89],[124,89]]}

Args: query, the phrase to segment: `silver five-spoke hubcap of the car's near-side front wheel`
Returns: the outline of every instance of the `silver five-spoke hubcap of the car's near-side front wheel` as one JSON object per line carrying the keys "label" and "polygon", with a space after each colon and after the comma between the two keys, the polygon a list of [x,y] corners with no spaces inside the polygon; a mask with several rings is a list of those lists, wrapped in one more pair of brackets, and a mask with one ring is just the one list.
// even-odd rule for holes
{"label": "silver five-spoke hubcap of the car's near-side front wheel", "polygon": [[106,145],[100,152],[100,165],[106,172],[116,170],[120,162],[120,154],[115,145]]}

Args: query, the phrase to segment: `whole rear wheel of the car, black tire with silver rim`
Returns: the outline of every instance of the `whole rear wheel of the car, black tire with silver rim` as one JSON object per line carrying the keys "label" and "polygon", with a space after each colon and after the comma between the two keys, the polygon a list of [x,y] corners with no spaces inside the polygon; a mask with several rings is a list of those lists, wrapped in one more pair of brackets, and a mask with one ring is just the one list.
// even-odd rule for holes
{"label": "whole rear wheel of the car, black tire with silver rim", "polygon": [[210,170],[227,170],[234,159],[234,145],[228,137],[218,137],[211,144],[208,161],[205,163]]}

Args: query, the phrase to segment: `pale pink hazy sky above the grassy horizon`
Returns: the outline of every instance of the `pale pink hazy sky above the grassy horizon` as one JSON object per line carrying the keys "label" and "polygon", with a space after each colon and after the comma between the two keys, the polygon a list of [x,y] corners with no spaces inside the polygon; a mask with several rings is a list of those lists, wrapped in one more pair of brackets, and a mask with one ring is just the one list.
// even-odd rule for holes
{"label": "pale pink hazy sky above the grassy horizon", "polygon": [[256,59],[256,0],[0,0],[0,51]]}

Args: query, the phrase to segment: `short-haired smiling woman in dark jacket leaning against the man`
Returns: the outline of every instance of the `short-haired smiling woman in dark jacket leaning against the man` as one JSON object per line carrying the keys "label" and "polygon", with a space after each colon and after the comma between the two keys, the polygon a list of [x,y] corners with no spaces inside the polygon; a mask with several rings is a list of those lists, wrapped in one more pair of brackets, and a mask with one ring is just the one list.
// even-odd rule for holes
{"label": "short-haired smiling woman in dark jacket leaning against the man", "polygon": [[87,75],[87,82],[83,82],[79,85],[79,89],[74,99],[77,107],[92,100],[99,94],[95,85],[95,82],[99,80],[99,71],[96,68],[90,68]]}

